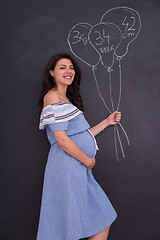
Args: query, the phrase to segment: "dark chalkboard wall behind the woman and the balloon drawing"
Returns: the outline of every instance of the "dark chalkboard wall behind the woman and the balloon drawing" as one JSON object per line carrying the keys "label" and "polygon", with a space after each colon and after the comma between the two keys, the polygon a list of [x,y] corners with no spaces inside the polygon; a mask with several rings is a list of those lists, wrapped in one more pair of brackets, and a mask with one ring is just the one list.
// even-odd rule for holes
{"label": "dark chalkboard wall behind the woman and the balloon drawing", "polygon": [[[99,134],[93,174],[118,213],[109,239],[159,240],[160,1],[15,0],[1,5],[0,239],[36,238],[50,147],[45,133],[38,129],[37,99],[44,66],[56,52],[70,52],[67,36],[75,24],[94,25],[110,8],[126,6],[138,11],[142,21],[137,39],[122,60],[121,123],[131,145],[121,131],[125,158],[118,148],[118,162],[114,128]],[[109,113],[91,68],[77,61],[82,69],[85,116],[94,126]],[[103,71],[99,67],[102,82]],[[116,73],[115,69],[113,89]]]}

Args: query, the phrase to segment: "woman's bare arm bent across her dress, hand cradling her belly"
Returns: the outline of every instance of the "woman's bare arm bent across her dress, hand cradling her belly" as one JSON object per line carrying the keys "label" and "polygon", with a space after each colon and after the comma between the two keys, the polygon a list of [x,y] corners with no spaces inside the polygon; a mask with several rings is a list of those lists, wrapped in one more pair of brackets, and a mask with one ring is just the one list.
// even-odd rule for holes
{"label": "woman's bare arm bent across her dress, hand cradling her belly", "polygon": [[83,163],[87,170],[95,166],[95,158],[89,158],[75,142],[67,136],[64,130],[54,131],[58,145],[72,157]]}

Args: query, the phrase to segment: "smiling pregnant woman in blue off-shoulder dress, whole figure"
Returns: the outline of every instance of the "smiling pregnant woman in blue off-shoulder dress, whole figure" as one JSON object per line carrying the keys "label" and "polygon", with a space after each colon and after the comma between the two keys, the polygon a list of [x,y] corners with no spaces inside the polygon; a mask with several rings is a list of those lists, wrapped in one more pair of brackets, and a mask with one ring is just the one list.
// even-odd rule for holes
{"label": "smiling pregnant woman in blue off-shoulder dress, whole figure", "polygon": [[68,53],[54,55],[44,71],[39,129],[46,130],[51,147],[37,240],[106,240],[117,217],[92,168],[98,149],[95,136],[117,124],[121,113],[90,127],[79,93],[80,78],[81,70]]}

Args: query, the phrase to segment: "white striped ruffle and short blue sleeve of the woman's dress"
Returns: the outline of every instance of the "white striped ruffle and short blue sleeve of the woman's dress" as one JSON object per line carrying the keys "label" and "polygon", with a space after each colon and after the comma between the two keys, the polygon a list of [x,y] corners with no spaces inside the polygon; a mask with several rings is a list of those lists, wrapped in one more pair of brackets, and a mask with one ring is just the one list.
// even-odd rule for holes
{"label": "white striped ruffle and short blue sleeve of the woman's dress", "polygon": [[67,130],[69,120],[80,113],[81,111],[71,103],[48,105],[41,112],[39,129],[44,130],[48,125],[53,132]]}

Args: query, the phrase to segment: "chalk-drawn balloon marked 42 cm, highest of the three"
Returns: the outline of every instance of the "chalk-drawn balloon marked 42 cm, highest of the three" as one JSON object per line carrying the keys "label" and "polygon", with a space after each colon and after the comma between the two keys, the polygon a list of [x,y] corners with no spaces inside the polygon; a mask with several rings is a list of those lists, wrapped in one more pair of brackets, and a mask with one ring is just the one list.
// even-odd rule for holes
{"label": "chalk-drawn balloon marked 42 cm, highest of the three", "polygon": [[141,29],[141,19],[139,13],[128,7],[116,7],[105,12],[101,22],[112,22],[116,24],[122,32],[122,41],[115,53],[118,57],[124,57],[128,52],[128,47],[138,36]]}

